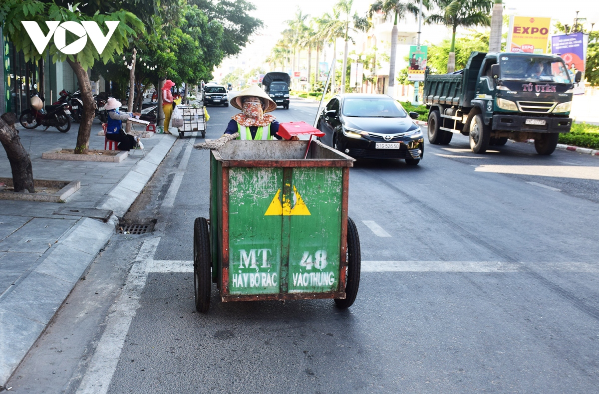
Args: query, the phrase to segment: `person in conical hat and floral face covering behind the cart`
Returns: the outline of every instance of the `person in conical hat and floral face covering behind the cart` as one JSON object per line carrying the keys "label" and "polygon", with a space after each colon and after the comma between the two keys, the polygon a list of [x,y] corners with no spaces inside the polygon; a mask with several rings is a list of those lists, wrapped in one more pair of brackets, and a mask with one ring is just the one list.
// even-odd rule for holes
{"label": "person in conical hat and floral face covering behind the cart", "polygon": [[231,118],[225,134],[238,132],[237,140],[272,140],[273,136],[277,140],[283,139],[276,134],[279,122],[274,116],[265,114],[276,110],[277,104],[258,85],[239,93],[231,99],[231,105],[241,113]]}

